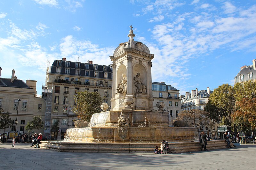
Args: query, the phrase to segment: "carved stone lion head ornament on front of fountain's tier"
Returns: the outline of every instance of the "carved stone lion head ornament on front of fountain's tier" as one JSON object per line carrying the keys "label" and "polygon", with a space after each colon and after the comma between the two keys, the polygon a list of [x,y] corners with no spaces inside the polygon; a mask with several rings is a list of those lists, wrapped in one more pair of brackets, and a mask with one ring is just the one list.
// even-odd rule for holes
{"label": "carved stone lion head ornament on front of fountain's tier", "polygon": [[128,135],[129,119],[126,115],[118,116],[118,135],[120,139],[125,139]]}

